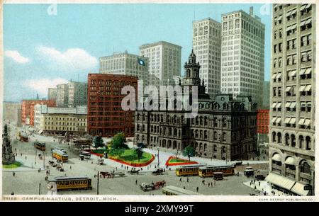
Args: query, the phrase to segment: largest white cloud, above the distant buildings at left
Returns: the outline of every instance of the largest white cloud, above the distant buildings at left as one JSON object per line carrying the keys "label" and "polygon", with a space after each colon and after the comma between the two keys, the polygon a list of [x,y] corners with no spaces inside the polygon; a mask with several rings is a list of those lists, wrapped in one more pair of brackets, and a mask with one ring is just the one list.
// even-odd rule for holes
{"label": "largest white cloud, above the distant buildings at left", "polygon": [[51,67],[66,72],[95,69],[98,64],[96,57],[80,48],[70,48],[60,52],[53,47],[40,46],[36,47],[36,51],[42,59],[50,62]]}

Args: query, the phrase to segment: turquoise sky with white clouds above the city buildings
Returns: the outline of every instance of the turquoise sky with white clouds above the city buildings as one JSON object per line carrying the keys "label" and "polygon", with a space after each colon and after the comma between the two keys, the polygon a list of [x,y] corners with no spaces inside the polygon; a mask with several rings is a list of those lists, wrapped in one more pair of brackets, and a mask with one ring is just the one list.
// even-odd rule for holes
{"label": "turquoise sky with white clouds above the city buildings", "polygon": [[[269,80],[271,4],[4,4],[4,101],[47,97],[57,84],[87,81],[99,57],[164,40],[180,45],[181,64],[192,47],[192,22],[243,10],[265,24]],[[184,68],[181,67],[181,74]]]}

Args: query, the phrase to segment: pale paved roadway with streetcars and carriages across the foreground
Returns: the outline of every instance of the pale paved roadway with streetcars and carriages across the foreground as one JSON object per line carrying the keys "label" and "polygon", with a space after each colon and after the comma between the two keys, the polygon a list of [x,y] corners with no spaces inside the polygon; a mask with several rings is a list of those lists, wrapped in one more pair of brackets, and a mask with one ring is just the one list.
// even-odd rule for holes
{"label": "pale paved roadway with streetcars and carriages across the foreground", "polygon": [[[96,164],[96,157],[92,156],[90,160],[79,160],[79,153],[69,150],[67,144],[57,144],[53,142],[51,137],[30,137],[29,142],[19,142],[13,141],[15,139],[15,130],[11,129],[13,152],[18,154],[16,160],[21,161],[23,166],[18,169],[5,169],[3,171],[3,194],[14,193],[24,194],[24,195],[36,195],[39,193],[40,184],[40,194],[47,194],[48,190],[46,188],[47,182],[45,181],[45,171],[38,171],[39,168],[43,169],[43,160],[40,160],[36,156],[36,149],[33,147],[33,142],[35,140],[44,139],[46,142],[45,154],[45,165],[48,164],[48,160],[52,159],[50,157],[51,147],[60,146],[67,150],[69,154],[69,161],[63,164],[65,169],[64,172],[57,171],[57,169],[50,166],[50,176],[89,176],[92,178],[93,189],[89,191],[63,191],[58,192],[59,195],[94,195],[96,194],[97,179],[94,177],[97,171],[112,171],[115,168],[114,162],[106,160],[104,165]],[[22,153],[22,156],[21,156]],[[37,154],[39,151],[36,152]],[[159,153],[161,154],[161,152]],[[26,159],[27,157],[27,159]],[[35,163],[36,160],[36,163]],[[260,161],[259,161],[260,162]],[[163,161],[164,163],[164,161]],[[116,164],[118,171],[121,170],[121,164]],[[142,182],[151,183],[156,181],[166,181],[167,185],[178,186],[190,191],[196,191],[198,187],[198,193],[203,195],[249,195],[254,193],[253,188],[246,186],[244,182],[250,181],[250,178],[243,176],[228,176],[225,177],[223,181],[216,181],[216,186],[208,187],[208,183],[213,182],[212,178],[205,178],[206,184],[202,184],[203,178],[198,176],[189,177],[189,182],[186,182],[186,177],[183,177],[180,182],[180,178],[174,174],[174,171],[166,170],[161,176],[153,176],[151,171],[155,168],[147,170],[143,168],[143,172],[138,175],[126,174],[125,177],[115,177],[115,178],[100,178],[99,180],[99,194],[105,195],[161,195],[162,190],[155,190],[149,192],[143,192],[138,186]],[[13,176],[13,171],[15,171],[15,176]],[[124,170],[123,170],[124,171]],[[138,185],[135,181],[138,180]]]}

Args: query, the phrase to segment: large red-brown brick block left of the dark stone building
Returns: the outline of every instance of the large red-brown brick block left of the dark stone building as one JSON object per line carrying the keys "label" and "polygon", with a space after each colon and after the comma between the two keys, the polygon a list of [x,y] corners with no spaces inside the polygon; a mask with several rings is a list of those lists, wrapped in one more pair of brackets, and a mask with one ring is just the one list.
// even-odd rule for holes
{"label": "large red-brown brick block left of the dark stone building", "polygon": [[[89,135],[112,137],[124,132],[126,137],[134,136],[134,111],[124,111],[121,101],[123,86],[138,87],[136,76],[113,74],[89,74],[88,76],[88,118]],[[135,90],[136,91],[136,90]],[[137,92],[136,96],[137,96]]]}

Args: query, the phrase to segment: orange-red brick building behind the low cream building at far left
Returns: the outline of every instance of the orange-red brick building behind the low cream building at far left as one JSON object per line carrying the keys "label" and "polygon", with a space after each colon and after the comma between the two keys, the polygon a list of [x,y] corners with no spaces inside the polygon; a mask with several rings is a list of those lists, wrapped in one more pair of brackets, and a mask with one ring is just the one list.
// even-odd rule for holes
{"label": "orange-red brick building behind the low cream building at far left", "polygon": [[21,122],[23,125],[34,125],[34,106],[36,104],[55,107],[55,100],[23,100],[21,105]]}

